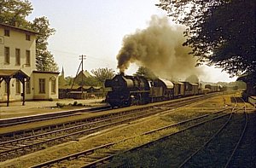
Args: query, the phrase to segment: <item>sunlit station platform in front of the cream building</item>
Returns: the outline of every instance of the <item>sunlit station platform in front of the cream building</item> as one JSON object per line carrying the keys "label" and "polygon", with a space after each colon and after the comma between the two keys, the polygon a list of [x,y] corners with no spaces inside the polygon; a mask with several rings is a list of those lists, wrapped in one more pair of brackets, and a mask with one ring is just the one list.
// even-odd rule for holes
{"label": "sunlit station platform in front of the cream building", "polygon": [[59,99],[58,101],[26,101],[25,106],[22,106],[22,101],[14,101],[9,103],[9,107],[6,107],[6,102],[1,102],[0,119],[9,119],[42,113],[55,113],[82,108],[81,106],[67,106],[63,108],[56,107],[56,103],[68,105],[70,103],[73,104],[74,101],[82,103],[84,105],[83,107],[97,107],[105,105],[105,103],[102,103],[103,99]]}

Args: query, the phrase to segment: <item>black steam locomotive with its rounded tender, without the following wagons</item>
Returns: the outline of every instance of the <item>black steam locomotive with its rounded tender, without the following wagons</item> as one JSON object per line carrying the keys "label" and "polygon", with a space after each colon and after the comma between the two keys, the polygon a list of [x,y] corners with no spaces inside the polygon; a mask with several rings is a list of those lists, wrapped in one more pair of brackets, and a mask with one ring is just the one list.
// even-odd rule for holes
{"label": "black steam locomotive with its rounded tender, without the following wagons", "polygon": [[174,84],[160,78],[149,80],[143,76],[129,76],[120,73],[113,79],[107,79],[105,87],[110,89],[106,101],[112,107],[147,104],[175,97]]}

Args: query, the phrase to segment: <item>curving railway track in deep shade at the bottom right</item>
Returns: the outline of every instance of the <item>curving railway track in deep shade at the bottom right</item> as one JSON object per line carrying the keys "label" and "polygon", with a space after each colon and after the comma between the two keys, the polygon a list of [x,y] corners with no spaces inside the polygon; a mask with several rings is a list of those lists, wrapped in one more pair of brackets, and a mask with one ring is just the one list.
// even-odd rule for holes
{"label": "curving railway track in deep shade at the bottom right", "polygon": [[[209,167],[216,165],[216,163],[220,167],[228,167],[241,138],[244,136],[246,127],[246,113],[241,116],[230,115],[227,122],[201,148],[198,148],[188,159],[185,159],[179,167],[199,165]],[[227,137],[230,137],[229,141],[227,141]]]}

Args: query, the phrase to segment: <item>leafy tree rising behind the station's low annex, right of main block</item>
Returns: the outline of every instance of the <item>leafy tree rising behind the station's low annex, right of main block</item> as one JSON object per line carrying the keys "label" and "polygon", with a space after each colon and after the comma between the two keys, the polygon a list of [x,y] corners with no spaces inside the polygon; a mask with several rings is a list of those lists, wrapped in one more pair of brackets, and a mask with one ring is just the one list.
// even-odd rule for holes
{"label": "leafy tree rising behind the station's low annex, right of main block", "polygon": [[59,68],[54,61],[54,57],[47,49],[47,40],[55,33],[55,29],[49,27],[49,20],[47,20],[46,17],[40,17],[33,20],[32,29],[39,33],[36,39],[36,67],[38,71],[58,71]]}

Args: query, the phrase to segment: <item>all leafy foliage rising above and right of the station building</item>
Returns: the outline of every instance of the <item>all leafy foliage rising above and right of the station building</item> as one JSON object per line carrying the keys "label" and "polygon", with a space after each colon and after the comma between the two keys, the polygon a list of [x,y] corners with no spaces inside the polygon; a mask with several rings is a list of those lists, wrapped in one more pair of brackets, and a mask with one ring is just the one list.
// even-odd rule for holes
{"label": "all leafy foliage rising above and right of the station building", "polygon": [[26,16],[32,13],[32,3],[28,0],[0,0],[0,22],[18,26],[39,33],[36,39],[36,67],[38,71],[58,71],[53,55],[47,49],[47,40],[55,29],[49,27],[46,17],[36,18],[32,22]]}

